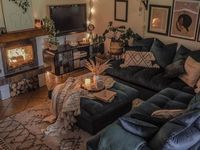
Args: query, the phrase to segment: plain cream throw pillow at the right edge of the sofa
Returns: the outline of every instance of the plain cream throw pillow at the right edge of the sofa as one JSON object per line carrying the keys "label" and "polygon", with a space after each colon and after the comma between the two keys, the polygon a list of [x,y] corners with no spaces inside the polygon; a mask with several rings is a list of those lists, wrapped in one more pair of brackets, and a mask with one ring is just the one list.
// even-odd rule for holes
{"label": "plain cream throw pillow at the right edge of the sofa", "polygon": [[179,78],[187,85],[194,88],[200,77],[200,63],[189,56],[185,62],[184,67],[186,73],[180,75]]}

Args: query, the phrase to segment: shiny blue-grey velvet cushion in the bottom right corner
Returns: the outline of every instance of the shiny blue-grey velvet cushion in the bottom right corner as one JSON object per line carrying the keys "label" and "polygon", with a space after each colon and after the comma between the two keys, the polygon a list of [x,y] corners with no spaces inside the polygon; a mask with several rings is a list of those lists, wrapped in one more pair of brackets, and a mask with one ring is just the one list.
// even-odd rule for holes
{"label": "shiny blue-grey velvet cushion in the bottom right corner", "polygon": [[153,149],[191,149],[200,141],[199,123],[199,110],[186,112],[160,128],[149,145]]}

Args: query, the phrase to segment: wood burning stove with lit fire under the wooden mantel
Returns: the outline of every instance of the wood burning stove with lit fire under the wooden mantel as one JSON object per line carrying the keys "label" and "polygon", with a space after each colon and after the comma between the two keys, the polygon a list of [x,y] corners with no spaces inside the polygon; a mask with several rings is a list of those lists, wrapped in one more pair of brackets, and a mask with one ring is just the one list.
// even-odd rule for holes
{"label": "wood burning stove with lit fire under the wooden mantel", "polygon": [[5,76],[38,67],[35,39],[9,42],[1,48]]}

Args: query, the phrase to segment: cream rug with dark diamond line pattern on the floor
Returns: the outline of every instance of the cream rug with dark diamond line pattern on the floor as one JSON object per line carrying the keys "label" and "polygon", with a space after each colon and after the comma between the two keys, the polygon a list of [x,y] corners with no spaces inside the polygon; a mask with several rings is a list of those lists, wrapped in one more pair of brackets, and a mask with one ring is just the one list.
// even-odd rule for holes
{"label": "cream rug with dark diamond line pattern on the floor", "polygon": [[85,150],[90,135],[79,128],[57,137],[43,134],[50,124],[43,121],[50,115],[49,106],[49,103],[44,103],[0,120],[0,149]]}

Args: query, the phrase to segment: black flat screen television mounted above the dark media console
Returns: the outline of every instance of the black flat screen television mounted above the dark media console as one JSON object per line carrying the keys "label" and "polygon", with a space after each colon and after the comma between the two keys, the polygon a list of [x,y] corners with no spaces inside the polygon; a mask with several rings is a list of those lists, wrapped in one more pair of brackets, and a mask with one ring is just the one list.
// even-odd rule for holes
{"label": "black flat screen television mounted above the dark media console", "polygon": [[86,4],[50,6],[50,18],[59,34],[87,30]]}

